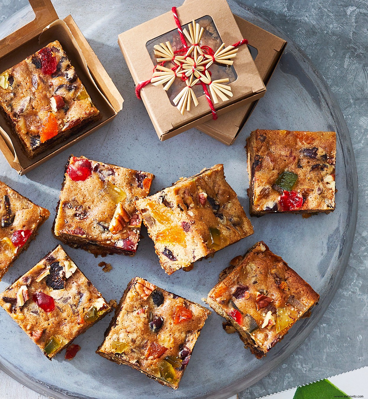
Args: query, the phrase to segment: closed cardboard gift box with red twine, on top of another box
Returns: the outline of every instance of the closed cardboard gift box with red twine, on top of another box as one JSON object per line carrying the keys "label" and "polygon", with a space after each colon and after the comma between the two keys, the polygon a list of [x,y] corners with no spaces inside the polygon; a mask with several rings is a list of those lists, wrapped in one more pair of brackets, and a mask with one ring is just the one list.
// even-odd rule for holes
{"label": "closed cardboard gift box with red twine, on top of another box", "polygon": [[[232,45],[243,39],[226,0],[217,0],[216,7],[213,7],[211,0],[187,1],[176,9],[176,13],[183,30],[186,28],[190,32],[191,26],[189,25],[191,25],[192,20],[195,20],[202,27],[205,26],[206,32],[200,44],[208,45],[209,41],[210,47],[213,47],[214,51],[221,43]],[[217,41],[214,38],[217,38]],[[157,65],[153,47],[166,41],[170,41],[174,51],[176,51],[178,45],[179,47],[182,46],[172,11],[119,35],[119,46],[136,85],[152,77],[153,68]],[[188,44],[190,46],[189,41]],[[229,96],[225,101],[219,100],[218,103],[215,103],[211,93],[218,116],[253,103],[263,97],[266,91],[247,45],[241,45],[237,48],[233,65],[231,67],[225,65],[223,69],[220,65],[211,75],[213,80],[221,80],[226,77],[230,79],[228,85],[231,87],[232,97]],[[185,88],[183,82],[179,81],[179,83],[182,84],[181,88]],[[174,89],[178,90],[178,87],[179,85],[176,85]],[[202,86],[193,86],[198,105],[194,107],[192,103],[190,111],[184,112],[183,115],[173,101],[178,93],[177,91],[170,93],[170,89],[166,92],[162,90],[162,86],[156,87],[153,84],[148,84],[140,91],[143,103],[160,140],[166,140],[213,117]]]}

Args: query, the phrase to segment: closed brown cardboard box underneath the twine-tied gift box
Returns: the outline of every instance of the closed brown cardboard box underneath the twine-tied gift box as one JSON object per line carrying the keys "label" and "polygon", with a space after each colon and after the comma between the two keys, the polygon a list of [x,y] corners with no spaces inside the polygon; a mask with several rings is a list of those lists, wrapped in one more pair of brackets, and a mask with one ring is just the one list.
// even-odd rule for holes
{"label": "closed brown cardboard box underneath the twine-tied gift box", "polygon": [[[251,22],[237,15],[234,15],[234,17],[243,37],[247,38],[249,45],[253,47],[251,50],[254,49],[254,62],[264,84],[267,85],[278,61],[280,61],[287,41],[251,24]],[[235,111],[230,111],[225,115],[221,115],[217,120],[209,120],[208,122],[202,123],[196,126],[196,128],[216,140],[230,145],[237,138],[257,102],[258,101],[253,101]]]}

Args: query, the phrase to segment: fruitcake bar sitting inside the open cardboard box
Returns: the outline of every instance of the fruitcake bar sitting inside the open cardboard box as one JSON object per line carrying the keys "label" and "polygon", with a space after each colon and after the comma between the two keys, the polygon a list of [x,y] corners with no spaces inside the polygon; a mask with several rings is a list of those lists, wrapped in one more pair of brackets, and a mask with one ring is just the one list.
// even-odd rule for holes
{"label": "fruitcake bar sitting inside the open cardboard box", "polygon": [[30,158],[99,113],[57,40],[0,75],[0,105]]}

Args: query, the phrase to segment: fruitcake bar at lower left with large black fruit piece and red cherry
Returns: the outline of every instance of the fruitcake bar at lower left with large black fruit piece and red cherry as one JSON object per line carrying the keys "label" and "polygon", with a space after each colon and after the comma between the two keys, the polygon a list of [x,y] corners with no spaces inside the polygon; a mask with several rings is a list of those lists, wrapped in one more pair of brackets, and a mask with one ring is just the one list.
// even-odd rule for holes
{"label": "fruitcake bar at lower left with large black fruit piece and red cherry", "polygon": [[2,292],[0,305],[49,359],[112,310],[60,245]]}

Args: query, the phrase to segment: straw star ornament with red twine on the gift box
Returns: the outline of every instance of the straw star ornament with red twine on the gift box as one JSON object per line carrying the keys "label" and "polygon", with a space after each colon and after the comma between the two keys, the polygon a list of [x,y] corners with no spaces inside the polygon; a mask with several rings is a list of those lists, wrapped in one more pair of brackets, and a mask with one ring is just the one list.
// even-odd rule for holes
{"label": "straw star ornament with red twine on the gift box", "polygon": [[[202,85],[212,117],[217,119],[213,103],[217,104],[219,98],[222,101],[227,101],[229,97],[233,97],[233,93],[231,92],[231,87],[224,84],[228,83],[229,79],[212,80],[209,68],[214,63],[233,65],[238,47],[242,44],[247,44],[248,40],[243,39],[229,46],[225,46],[222,43],[216,51],[213,51],[211,47],[201,45],[205,30],[200,24],[193,20],[191,24],[188,24],[188,30],[186,28],[182,30],[175,7],[172,8],[172,12],[183,47],[174,51],[170,41],[154,45],[154,53],[159,64],[155,66],[151,79],[137,85],[135,93],[138,98],[141,98],[140,90],[149,83],[155,86],[163,85],[163,89],[167,91],[176,79],[181,79],[185,87],[173,99],[173,103],[180,113],[184,115],[185,111],[190,111],[192,101],[195,107],[199,104],[193,87],[194,85]],[[190,45],[188,45],[186,39]],[[172,68],[165,67],[164,64],[167,62],[173,63],[174,66]]]}

